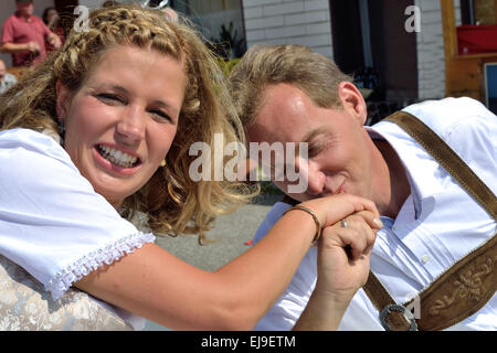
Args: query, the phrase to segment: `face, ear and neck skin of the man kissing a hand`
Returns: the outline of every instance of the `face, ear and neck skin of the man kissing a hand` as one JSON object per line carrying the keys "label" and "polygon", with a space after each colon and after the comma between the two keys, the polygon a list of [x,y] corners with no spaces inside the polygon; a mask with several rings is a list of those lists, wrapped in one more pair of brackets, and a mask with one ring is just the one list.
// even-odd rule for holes
{"label": "face, ear and neck skin of the man kissing a hand", "polygon": [[269,145],[308,143],[308,160],[295,161],[297,170],[307,169],[307,191],[289,194],[287,181],[275,181],[292,197],[303,202],[350,193],[372,200],[380,214],[394,217],[410,193],[402,163],[389,143],[371,140],[363,128],[367,109],[358,89],[341,83],[339,97],[342,108],[320,108],[295,86],[269,85],[248,137]]}

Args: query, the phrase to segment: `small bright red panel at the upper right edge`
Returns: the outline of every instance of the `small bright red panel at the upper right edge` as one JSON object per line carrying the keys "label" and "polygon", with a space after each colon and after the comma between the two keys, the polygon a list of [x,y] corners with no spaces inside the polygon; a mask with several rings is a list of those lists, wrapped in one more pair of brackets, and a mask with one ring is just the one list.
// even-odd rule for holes
{"label": "small bright red panel at the upper right edge", "polygon": [[497,53],[497,24],[459,25],[457,47],[459,55]]}

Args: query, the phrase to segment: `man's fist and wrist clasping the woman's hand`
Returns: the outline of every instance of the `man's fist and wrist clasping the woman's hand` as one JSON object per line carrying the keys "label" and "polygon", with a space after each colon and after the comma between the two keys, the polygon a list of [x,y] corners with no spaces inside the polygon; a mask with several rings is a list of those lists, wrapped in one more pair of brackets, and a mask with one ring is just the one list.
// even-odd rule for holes
{"label": "man's fist and wrist clasping the woman's hand", "polygon": [[336,330],[356,291],[368,280],[378,229],[377,215],[361,211],[322,229],[318,279],[295,330]]}

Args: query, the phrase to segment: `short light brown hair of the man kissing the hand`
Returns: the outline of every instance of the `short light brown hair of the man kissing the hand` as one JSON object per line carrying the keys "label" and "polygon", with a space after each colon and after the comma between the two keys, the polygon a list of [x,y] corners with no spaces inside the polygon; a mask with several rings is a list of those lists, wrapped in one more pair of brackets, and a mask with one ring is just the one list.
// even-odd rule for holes
{"label": "short light brown hair of the man kissing the hand", "polygon": [[230,92],[245,127],[255,122],[267,85],[290,84],[321,108],[341,107],[338,84],[352,82],[328,57],[303,45],[255,45],[229,76]]}

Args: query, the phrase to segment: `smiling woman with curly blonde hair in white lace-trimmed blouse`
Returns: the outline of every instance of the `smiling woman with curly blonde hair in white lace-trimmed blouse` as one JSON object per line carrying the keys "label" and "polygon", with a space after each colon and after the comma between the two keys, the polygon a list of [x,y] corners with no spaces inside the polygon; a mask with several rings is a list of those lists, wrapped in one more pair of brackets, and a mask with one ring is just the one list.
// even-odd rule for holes
{"label": "smiling woman with curly blonde hair in white lace-trimmed blouse", "polygon": [[[92,12],[87,32],[71,32],[2,99],[0,254],[53,299],[76,287],[119,308],[134,328],[142,317],[176,330],[252,329],[289,282],[316,223],[325,227],[321,287],[336,295],[337,312],[366,281],[378,213],[351,195],[306,202],[316,220],[287,213],[215,272],[168,254],[125,220],[142,212],[155,233],[198,233],[201,242],[215,215],[248,195],[239,183],[189,178],[193,142],[212,146],[222,132],[229,143],[243,132],[209,51],[162,12]],[[346,216],[360,235],[328,227]],[[347,244],[360,266],[347,260]],[[340,268],[352,271],[327,277]]]}

